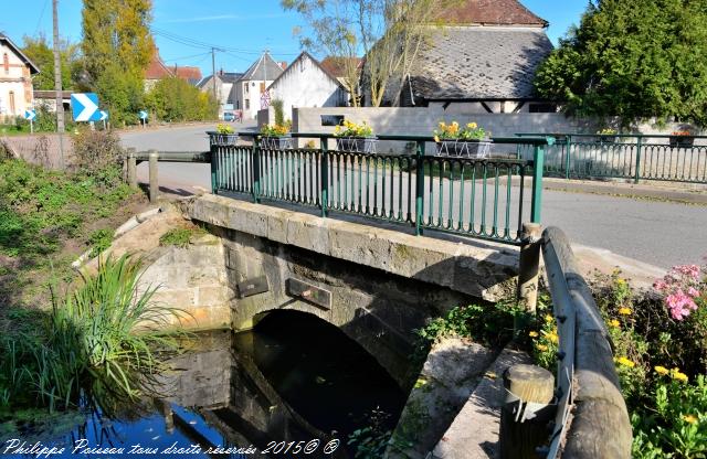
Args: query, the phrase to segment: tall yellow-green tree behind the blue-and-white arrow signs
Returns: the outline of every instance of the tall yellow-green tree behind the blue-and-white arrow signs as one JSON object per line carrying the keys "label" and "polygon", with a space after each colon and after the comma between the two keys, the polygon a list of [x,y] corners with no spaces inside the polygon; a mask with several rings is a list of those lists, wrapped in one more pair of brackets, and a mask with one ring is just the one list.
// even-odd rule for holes
{"label": "tall yellow-green tree behind the blue-and-white arrow signs", "polygon": [[117,121],[137,122],[155,44],[151,0],[84,0],[82,49],[92,86]]}

